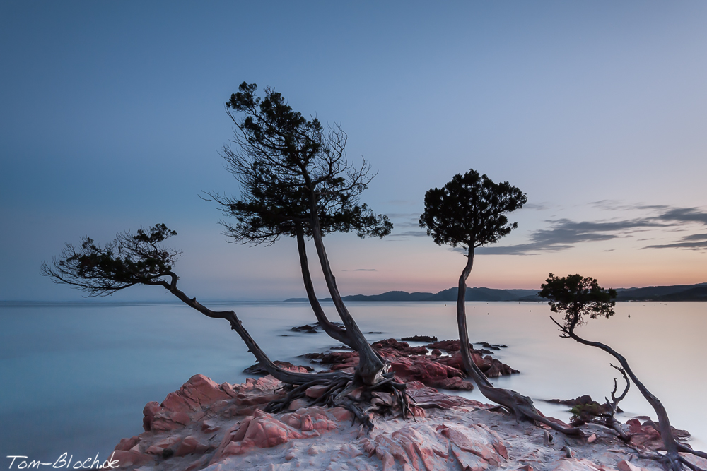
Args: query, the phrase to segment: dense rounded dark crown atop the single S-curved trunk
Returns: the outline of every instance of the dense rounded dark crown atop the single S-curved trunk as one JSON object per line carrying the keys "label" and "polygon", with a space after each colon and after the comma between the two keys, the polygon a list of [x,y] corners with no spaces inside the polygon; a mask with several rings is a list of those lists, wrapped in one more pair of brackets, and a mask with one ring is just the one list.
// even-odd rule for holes
{"label": "dense rounded dark crown atop the single S-curved trunk", "polygon": [[473,169],[456,174],[442,189],[425,194],[425,212],[420,227],[427,228],[438,245],[464,249],[493,244],[518,227],[508,223],[505,213],[522,208],[527,196],[508,181],[493,183]]}

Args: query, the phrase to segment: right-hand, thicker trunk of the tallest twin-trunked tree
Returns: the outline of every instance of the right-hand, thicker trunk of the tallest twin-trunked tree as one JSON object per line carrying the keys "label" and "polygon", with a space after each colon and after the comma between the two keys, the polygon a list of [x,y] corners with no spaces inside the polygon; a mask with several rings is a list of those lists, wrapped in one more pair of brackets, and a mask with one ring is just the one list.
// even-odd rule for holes
{"label": "right-hand, thicker trunk of the tallest twin-trunked tree", "polygon": [[322,272],[324,273],[329,293],[332,295],[334,306],[336,306],[339,317],[341,317],[341,321],[343,321],[344,326],[346,326],[346,333],[348,333],[349,340],[351,340],[349,345],[358,352],[358,366],[356,367],[355,377],[360,379],[363,384],[371,386],[379,381],[385,380],[382,374],[387,372],[388,365],[383,361],[378,352],[373,350],[373,347],[368,344],[361,329],[358,328],[356,321],[354,321],[354,318],[349,314],[349,310],[346,309],[346,305],[343,299],[341,299],[341,294],[339,294],[339,288],[337,287],[337,280],[334,278],[332,268],[329,266],[329,258],[327,257],[324,242],[322,241],[322,231],[320,229],[319,218],[317,217],[316,203],[313,202],[312,206],[312,239],[314,239],[315,246],[317,247],[317,255],[322,265]]}

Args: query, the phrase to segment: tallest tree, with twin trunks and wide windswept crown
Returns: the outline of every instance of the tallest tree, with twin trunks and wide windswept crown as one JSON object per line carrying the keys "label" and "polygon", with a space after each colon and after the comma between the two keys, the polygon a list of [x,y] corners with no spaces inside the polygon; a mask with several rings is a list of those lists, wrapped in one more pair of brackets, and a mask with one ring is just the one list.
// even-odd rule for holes
{"label": "tallest tree, with twin trunks and wide windswept crown", "polygon": [[[306,119],[280,93],[242,83],[226,102],[235,124],[235,146],[226,146],[226,167],[240,184],[240,197],[209,193],[234,222],[221,221],[235,242],[271,244],[296,237],[305,289],[317,321],[332,336],[354,348],[359,363],[351,388],[390,383],[389,365],[368,344],[339,294],[323,237],[356,232],[359,237],[384,237],[392,224],[375,215],[360,195],[375,177],[364,160],[358,167],[346,158],[347,136],[340,126],[325,129],[317,118]],[[344,328],[327,318],[315,295],[305,238],[314,241],[329,294]]]}

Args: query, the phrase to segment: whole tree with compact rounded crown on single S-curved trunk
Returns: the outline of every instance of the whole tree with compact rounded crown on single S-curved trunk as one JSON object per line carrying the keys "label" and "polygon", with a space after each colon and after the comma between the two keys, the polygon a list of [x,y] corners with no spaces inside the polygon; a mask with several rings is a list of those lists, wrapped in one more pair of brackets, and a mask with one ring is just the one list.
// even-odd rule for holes
{"label": "whole tree with compact rounded crown on single S-curved trunk", "polygon": [[464,301],[467,278],[474,266],[474,249],[494,244],[518,227],[517,222],[508,222],[506,213],[522,208],[526,202],[525,193],[508,181],[494,183],[486,175],[479,175],[479,172],[471,169],[463,175],[456,174],[443,188],[433,188],[425,194],[425,211],[419,223],[420,227],[427,228],[427,235],[436,244],[459,246],[466,252],[464,255],[467,263],[459,277],[457,292],[457,326],[464,369],[481,393],[513,412],[516,419],[530,419],[566,434],[579,434],[576,427],[561,427],[540,415],[527,396],[513,390],[494,388],[489,378],[474,363],[469,350]]}

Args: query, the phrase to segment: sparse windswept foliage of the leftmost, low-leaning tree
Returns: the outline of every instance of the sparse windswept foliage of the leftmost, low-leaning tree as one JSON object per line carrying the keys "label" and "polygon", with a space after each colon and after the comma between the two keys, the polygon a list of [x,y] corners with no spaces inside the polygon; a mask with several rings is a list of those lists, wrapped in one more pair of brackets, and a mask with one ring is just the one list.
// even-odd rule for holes
{"label": "sparse windswept foliage of the leftmost, low-leaning tree", "polygon": [[52,264],[42,263],[42,274],[54,282],[73,285],[89,296],[107,296],[133,285],[155,285],[172,268],[180,251],[161,246],[177,232],[158,224],[139,229],[136,234],[122,232],[105,246],[90,237],[81,239],[76,248],[66,244],[61,258]]}

